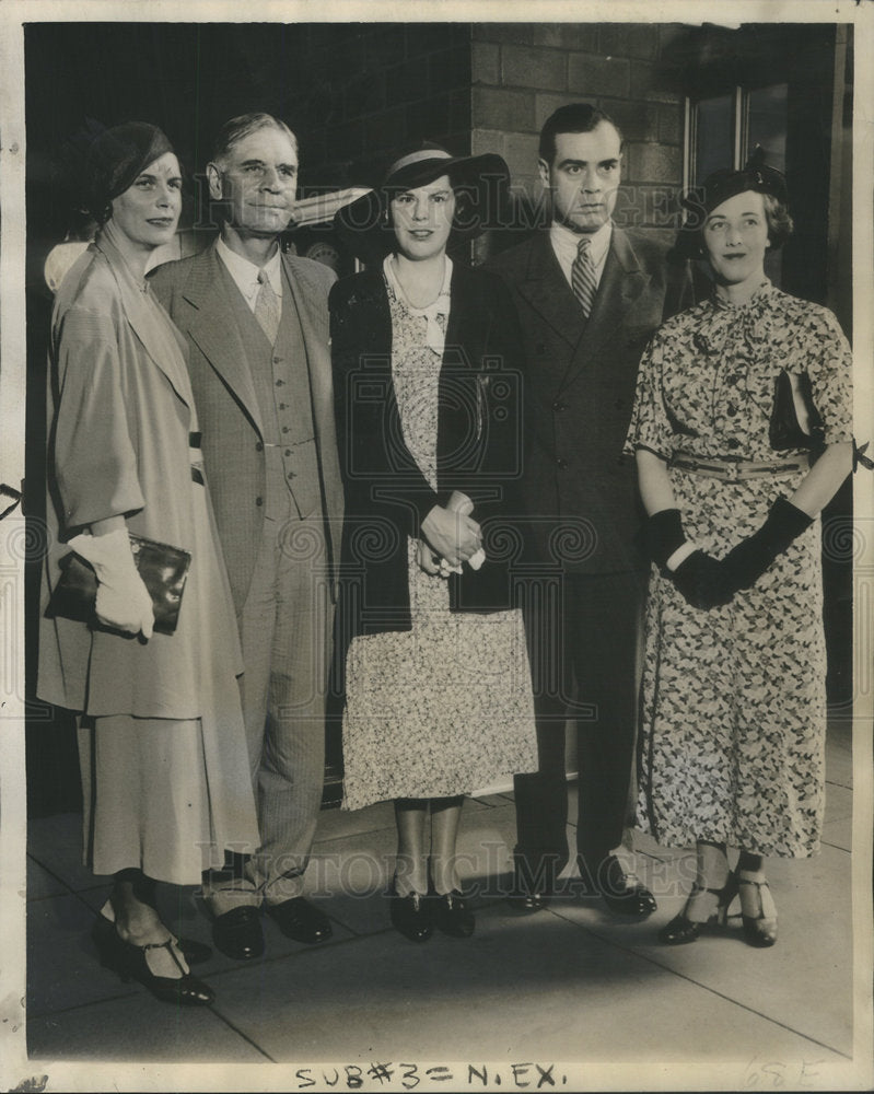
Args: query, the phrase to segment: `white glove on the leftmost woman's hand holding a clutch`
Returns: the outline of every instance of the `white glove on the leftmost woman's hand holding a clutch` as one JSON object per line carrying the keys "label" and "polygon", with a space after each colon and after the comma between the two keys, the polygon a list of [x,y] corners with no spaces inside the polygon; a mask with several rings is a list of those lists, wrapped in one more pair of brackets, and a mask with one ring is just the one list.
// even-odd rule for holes
{"label": "white glove on the leftmost woman's hand holding a clutch", "polygon": [[106,627],[131,635],[142,631],[144,638],[151,638],[154,628],[152,597],[137,572],[125,528],[116,528],[105,536],[75,536],[70,547],[94,567],[97,619]]}

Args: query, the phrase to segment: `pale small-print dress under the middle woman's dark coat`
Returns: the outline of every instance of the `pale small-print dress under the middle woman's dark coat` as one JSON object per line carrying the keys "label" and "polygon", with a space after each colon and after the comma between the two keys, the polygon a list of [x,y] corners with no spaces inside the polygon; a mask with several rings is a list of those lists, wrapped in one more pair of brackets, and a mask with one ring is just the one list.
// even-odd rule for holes
{"label": "pale small-print dress under the middle woman's dark coat", "polygon": [[[434,488],[448,260],[446,267],[442,310],[431,314],[412,307],[386,270],[404,440]],[[412,630],[359,636],[347,655],[347,810],[395,798],[466,794],[537,770],[521,612],[450,612],[447,584],[420,569],[416,544],[408,539]]]}

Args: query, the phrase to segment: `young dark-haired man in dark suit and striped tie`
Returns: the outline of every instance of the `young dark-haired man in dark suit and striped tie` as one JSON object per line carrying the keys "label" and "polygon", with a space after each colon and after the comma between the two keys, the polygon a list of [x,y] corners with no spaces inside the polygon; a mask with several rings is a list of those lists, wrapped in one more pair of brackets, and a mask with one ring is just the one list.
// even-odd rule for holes
{"label": "young dark-haired man in dark suit and striped tie", "polygon": [[589,104],[556,110],[538,164],[551,223],[492,264],[513,292],[527,358],[522,490],[536,565],[526,629],[540,769],[515,783],[512,903],[525,910],[543,906],[569,861],[567,718],[576,724],[583,883],[617,913],[655,910],[613,853],[627,817],[646,582],[634,468],[621,451],[638,362],[677,310],[683,278],[664,246],[613,224],[621,160],[606,114]]}

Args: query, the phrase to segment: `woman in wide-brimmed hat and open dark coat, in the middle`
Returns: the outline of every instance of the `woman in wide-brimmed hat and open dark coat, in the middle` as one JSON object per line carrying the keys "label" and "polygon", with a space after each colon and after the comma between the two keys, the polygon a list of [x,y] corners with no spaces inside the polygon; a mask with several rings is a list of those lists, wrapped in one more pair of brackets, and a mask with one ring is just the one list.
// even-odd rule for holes
{"label": "woman in wide-brimmed hat and open dark coat, in the middle", "polygon": [[501,281],[446,255],[479,225],[489,185],[506,179],[500,156],[423,147],[338,221],[360,255],[382,252],[330,298],[346,492],[343,806],[395,801],[391,915],[413,941],[434,926],[474,930],[455,862],[462,795],[537,769],[509,567],[521,339]]}

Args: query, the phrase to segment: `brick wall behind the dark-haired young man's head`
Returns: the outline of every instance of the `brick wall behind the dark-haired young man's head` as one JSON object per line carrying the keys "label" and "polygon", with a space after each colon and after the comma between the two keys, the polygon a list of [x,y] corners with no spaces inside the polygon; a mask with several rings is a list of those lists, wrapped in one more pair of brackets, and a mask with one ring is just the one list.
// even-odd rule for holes
{"label": "brick wall behind the dark-haired young man's head", "polygon": [[540,127],[564,103],[595,103],[626,141],[617,222],[673,238],[684,100],[663,53],[681,33],[676,24],[474,24],[471,150],[500,152],[516,196],[536,203]]}

